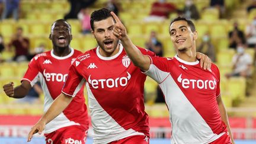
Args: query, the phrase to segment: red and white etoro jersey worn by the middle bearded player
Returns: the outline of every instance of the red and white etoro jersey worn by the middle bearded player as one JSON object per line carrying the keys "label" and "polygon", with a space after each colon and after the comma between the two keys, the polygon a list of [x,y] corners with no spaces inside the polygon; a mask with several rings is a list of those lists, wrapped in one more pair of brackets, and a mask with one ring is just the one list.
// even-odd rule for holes
{"label": "red and white etoro jersey worn by the middle bearded player", "polygon": [[[133,135],[149,136],[143,89],[146,75],[133,65],[123,46],[111,57],[100,47],[77,57],[62,92],[75,97],[84,82],[88,91],[94,143],[109,143]],[[149,50],[139,48],[145,55]]]}

